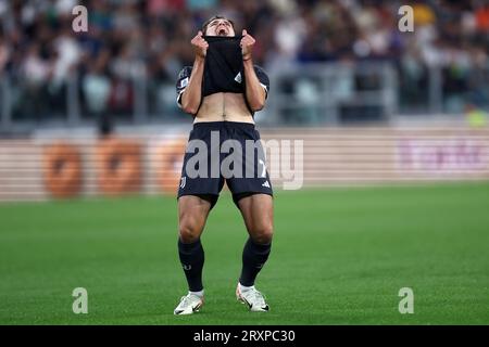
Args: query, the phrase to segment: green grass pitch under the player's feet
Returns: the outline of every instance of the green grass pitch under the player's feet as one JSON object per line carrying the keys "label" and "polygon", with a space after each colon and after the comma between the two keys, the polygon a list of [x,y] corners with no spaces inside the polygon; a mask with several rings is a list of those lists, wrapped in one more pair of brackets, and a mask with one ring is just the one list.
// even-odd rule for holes
{"label": "green grass pitch under the player's feet", "polygon": [[[3,204],[0,323],[488,324],[488,207],[489,183],[278,192],[255,313],[235,299],[247,234],[225,192],[202,237],[205,306],[175,317],[173,197]],[[414,314],[398,311],[405,286]]]}

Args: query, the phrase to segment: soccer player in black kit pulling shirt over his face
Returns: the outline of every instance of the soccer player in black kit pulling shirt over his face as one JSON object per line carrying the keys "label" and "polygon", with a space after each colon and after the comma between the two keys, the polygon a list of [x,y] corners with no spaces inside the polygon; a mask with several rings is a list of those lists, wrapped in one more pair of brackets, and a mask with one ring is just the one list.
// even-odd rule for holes
{"label": "soccer player in black kit pulling shirt over his face", "polygon": [[[254,282],[271,253],[273,191],[253,115],[265,104],[269,81],[263,69],[253,65],[254,43],[254,38],[247,30],[236,36],[230,20],[213,16],[191,40],[196,54],[193,66],[184,67],[178,76],[177,102],[193,116],[193,129],[178,188],[178,254],[189,292],[181,297],[175,314],[193,313],[204,303],[204,250],[200,236],[224,182],[233,193],[249,234],[242,252],[236,297],[251,311],[268,311],[268,305],[263,294],[254,287]],[[212,144],[215,138],[218,138],[218,146]],[[209,164],[205,164],[209,167],[199,167],[209,175],[195,177],[188,172],[187,164],[195,155],[189,153],[189,146],[195,140],[205,143],[209,149]],[[244,167],[244,164],[251,163],[252,177],[244,174],[241,177],[223,175],[221,164],[226,155],[220,147],[226,140],[241,144],[241,164]],[[247,151],[247,141],[254,143],[252,153]],[[212,157],[218,159],[217,176],[212,172],[211,167],[215,164]]]}

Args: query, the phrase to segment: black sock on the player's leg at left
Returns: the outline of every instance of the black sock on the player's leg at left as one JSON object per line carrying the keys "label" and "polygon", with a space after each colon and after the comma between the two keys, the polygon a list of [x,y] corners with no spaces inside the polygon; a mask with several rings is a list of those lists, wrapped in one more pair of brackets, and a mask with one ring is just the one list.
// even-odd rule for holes
{"label": "black sock on the player's leg at left", "polygon": [[178,255],[187,278],[188,290],[190,292],[202,291],[204,253],[200,239],[193,243],[183,243],[178,237]]}

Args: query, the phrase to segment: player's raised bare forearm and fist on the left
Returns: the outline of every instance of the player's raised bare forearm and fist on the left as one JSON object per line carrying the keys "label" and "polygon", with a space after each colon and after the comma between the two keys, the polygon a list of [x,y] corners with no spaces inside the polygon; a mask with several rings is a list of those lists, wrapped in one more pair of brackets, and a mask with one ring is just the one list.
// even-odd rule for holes
{"label": "player's raised bare forearm and fist on the left", "polygon": [[188,85],[181,94],[181,108],[189,114],[197,114],[202,98],[202,77],[205,65],[205,54],[209,48],[208,41],[202,37],[202,31],[199,31],[191,40],[193,51],[196,52],[196,60],[193,61],[192,73],[188,80]]}

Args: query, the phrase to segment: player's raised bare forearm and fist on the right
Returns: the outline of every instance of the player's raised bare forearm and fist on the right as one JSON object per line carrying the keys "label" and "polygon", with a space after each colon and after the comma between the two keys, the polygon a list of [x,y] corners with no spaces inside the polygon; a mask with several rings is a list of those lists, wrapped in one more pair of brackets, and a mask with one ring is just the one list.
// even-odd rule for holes
{"label": "player's raised bare forearm and fist on the right", "polygon": [[241,52],[242,52],[242,63],[244,68],[244,79],[246,79],[246,97],[248,104],[253,112],[260,111],[265,105],[266,91],[260,83],[256,73],[254,72],[253,60],[252,60],[252,48],[255,40],[254,38],[242,30],[241,39]]}

